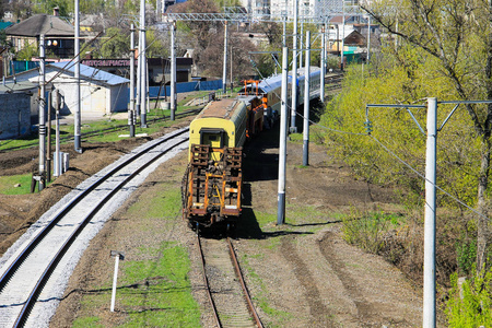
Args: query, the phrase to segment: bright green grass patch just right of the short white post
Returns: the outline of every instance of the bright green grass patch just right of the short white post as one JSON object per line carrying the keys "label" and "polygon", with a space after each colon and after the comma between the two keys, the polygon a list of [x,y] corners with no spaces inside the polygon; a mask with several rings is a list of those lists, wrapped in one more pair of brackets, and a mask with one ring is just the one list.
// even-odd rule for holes
{"label": "bright green grass patch just right of the short white post", "polygon": [[127,286],[118,292],[129,320],[121,327],[200,327],[189,267],[186,248],[172,243],[161,245],[157,259],[126,262],[120,281]]}

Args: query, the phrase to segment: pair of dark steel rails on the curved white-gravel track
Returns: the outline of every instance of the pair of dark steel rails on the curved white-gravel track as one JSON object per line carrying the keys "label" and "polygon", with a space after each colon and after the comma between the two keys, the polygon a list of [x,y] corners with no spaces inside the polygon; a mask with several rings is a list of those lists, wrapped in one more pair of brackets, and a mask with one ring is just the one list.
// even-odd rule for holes
{"label": "pair of dark steel rails on the curved white-gravel track", "polygon": [[[22,250],[22,253],[14,259],[14,261],[10,265],[10,267],[7,269],[7,271],[2,274],[0,278],[0,292],[3,290],[3,288],[9,283],[9,280],[15,274],[19,267],[23,263],[23,261],[30,256],[30,254],[36,248],[37,244],[52,230],[52,227],[56,226],[56,224],[61,220],[62,216],[65,216],[70,209],[72,209],[78,202],[80,202],[85,196],[87,196],[91,191],[93,191],[97,186],[99,186],[103,181],[107,179],[107,177],[114,175],[116,172],[120,171],[122,167],[127,166],[128,164],[136,161],[138,157],[142,156],[143,154],[148,153],[152,149],[159,147],[160,144],[169,141],[171,139],[178,137],[185,132],[187,132],[189,128],[185,128],[181,130],[174,131],[166,137],[164,137],[159,142],[151,144],[150,147],[143,149],[139,153],[136,153],[134,155],[127,159],[125,162],[120,163],[117,167],[113,168],[109,173],[107,173],[105,176],[98,178],[96,181],[94,181],[91,186],[89,186],[85,190],[83,190],[81,194],[79,194],[77,197],[74,197],[63,209],[61,209],[54,220],[49,222],[47,226],[45,226],[31,242],[30,244]],[[184,140],[183,142],[186,142]],[[180,143],[183,143],[180,142]],[[34,303],[36,302],[36,298],[38,294],[40,293],[43,286],[46,284],[50,273],[56,268],[56,265],[61,259],[62,255],[69,249],[69,246],[73,243],[73,241],[77,239],[77,236],[82,232],[83,227],[89,223],[89,221],[93,218],[93,215],[104,206],[104,203],[110,199],[119,189],[125,186],[130,179],[132,179],[137,174],[139,174],[142,169],[148,167],[150,164],[152,164],[154,161],[156,161],[159,157],[161,157],[163,154],[165,154],[171,149],[174,149],[175,147],[179,145],[175,144],[162,154],[155,156],[153,160],[147,162],[142,167],[137,169],[134,173],[132,173],[130,176],[126,177],[126,179],[120,183],[120,185],[112,190],[109,195],[94,209],[94,211],[90,214],[87,214],[83,221],[83,223],[79,226],[79,229],[67,239],[67,242],[62,245],[62,247],[57,253],[57,256],[51,260],[51,262],[48,265],[47,269],[44,271],[42,277],[39,278],[38,282],[36,283],[36,288],[32,291],[31,295],[28,296],[28,300],[24,304],[14,327],[20,327],[24,325],[28,313],[31,312],[32,307],[34,306]]]}

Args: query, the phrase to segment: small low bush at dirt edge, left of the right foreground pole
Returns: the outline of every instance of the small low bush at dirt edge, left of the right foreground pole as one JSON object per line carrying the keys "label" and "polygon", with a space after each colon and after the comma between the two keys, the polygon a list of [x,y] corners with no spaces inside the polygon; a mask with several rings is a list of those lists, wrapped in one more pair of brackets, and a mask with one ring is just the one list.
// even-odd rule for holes
{"label": "small low bush at dirt edge, left of the right foreground pole", "polygon": [[384,247],[384,234],[389,229],[400,225],[400,218],[395,214],[376,212],[352,212],[342,219],[343,239],[358,245],[368,253],[379,254]]}

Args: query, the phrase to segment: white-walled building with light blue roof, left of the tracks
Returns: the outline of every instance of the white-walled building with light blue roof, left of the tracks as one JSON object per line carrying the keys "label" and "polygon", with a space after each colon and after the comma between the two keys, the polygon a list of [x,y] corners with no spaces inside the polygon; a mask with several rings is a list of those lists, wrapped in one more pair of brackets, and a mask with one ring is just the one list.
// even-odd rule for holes
{"label": "white-walled building with light blue roof, left of the tracks", "polygon": [[[74,63],[61,61],[46,65],[46,81],[60,90],[63,97],[63,114],[74,114],[77,106]],[[39,83],[38,69],[16,74],[16,81]],[[81,112],[87,114],[109,115],[127,110],[129,103],[128,83],[130,80],[80,65]]]}

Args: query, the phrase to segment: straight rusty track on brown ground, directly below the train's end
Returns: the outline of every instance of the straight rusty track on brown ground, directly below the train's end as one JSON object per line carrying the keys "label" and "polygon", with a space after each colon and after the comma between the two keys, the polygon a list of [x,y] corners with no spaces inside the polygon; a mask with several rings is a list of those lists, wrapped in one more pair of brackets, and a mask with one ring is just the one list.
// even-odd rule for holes
{"label": "straight rusty track on brown ground, directly below the train's end", "polygon": [[231,239],[197,237],[203,280],[218,327],[263,327],[244,282]]}

